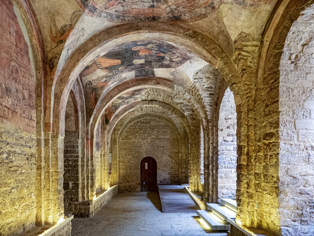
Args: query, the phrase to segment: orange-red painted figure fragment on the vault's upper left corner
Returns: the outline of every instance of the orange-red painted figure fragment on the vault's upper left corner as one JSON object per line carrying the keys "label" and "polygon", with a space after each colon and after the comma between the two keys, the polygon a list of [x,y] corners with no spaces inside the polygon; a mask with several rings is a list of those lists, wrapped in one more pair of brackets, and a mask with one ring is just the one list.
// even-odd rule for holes
{"label": "orange-red painted figure fragment on the vault's upper left corner", "polygon": [[71,31],[74,29],[82,14],[83,11],[81,10],[73,12],[70,18],[70,24],[62,25],[58,28],[56,25],[55,15],[48,10],[48,16],[50,18],[50,38],[53,42],[57,43],[57,46],[64,43],[68,39]]}

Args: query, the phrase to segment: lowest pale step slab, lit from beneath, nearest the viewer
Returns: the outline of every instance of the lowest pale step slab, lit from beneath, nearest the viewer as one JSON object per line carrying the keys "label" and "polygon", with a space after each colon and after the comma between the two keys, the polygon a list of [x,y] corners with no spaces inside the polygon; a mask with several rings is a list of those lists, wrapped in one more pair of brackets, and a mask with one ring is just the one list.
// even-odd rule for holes
{"label": "lowest pale step slab, lit from beneath, nearest the viewer", "polygon": [[212,230],[229,230],[230,224],[218,216],[216,216],[211,211],[206,210],[197,210],[198,216],[203,219],[203,221],[212,229]]}

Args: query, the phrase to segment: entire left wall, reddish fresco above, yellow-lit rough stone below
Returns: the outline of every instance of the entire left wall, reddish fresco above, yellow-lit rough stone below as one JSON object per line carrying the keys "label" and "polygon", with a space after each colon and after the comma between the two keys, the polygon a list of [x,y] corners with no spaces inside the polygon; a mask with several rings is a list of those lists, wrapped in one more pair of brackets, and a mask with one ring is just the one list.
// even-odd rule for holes
{"label": "entire left wall, reddish fresco above, yellow-lit rough stone below", "polygon": [[0,235],[18,235],[36,222],[35,78],[29,47],[14,13],[0,16]]}

